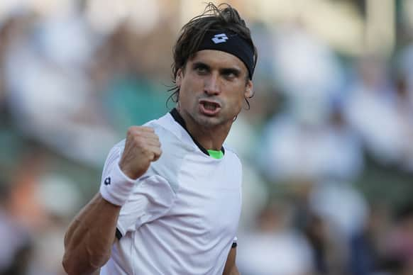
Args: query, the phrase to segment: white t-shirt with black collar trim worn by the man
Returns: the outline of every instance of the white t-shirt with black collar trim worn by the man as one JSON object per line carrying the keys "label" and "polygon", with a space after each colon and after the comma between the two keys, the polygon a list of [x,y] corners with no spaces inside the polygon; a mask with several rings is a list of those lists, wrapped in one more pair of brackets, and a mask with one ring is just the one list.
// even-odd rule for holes
{"label": "white t-shirt with black collar trim worn by the man", "polygon": [[[240,160],[227,147],[221,159],[206,155],[170,113],[145,125],[163,154],[122,207],[122,237],[101,274],[222,274],[241,214]],[[109,153],[102,179],[119,165],[124,144]]]}

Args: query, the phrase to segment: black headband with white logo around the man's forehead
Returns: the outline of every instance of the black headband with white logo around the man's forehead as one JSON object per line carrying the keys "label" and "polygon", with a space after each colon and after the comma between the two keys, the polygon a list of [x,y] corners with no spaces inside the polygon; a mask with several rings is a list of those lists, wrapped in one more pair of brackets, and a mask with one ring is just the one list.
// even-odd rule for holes
{"label": "black headband with white logo around the man's forehead", "polygon": [[254,50],[246,39],[228,30],[206,31],[198,50],[221,50],[238,57],[247,67],[250,79],[254,73]]}

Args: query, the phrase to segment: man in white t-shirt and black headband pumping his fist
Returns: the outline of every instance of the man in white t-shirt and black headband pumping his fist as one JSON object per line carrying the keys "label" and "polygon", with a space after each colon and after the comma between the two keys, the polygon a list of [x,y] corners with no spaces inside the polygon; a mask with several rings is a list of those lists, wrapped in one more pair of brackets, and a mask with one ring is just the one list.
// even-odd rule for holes
{"label": "man in white t-shirt and black headband pumping his fist", "polygon": [[238,274],[241,162],[223,144],[253,96],[256,58],[231,6],[209,4],[182,28],[177,106],[109,152],[100,192],[65,235],[68,274]]}

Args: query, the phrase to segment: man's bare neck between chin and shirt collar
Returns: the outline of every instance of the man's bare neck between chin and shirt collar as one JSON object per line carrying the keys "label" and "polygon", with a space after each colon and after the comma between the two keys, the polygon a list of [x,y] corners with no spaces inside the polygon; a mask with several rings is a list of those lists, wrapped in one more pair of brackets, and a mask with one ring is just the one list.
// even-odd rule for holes
{"label": "man's bare neck between chin and shirt collar", "polygon": [[206,150],[221,150],[233,121],[214,126],[199,125],[199,123],[185,111],[180,109],[177,110],[185,120],[188,132],[200,145],[202,145],[202,147]]}

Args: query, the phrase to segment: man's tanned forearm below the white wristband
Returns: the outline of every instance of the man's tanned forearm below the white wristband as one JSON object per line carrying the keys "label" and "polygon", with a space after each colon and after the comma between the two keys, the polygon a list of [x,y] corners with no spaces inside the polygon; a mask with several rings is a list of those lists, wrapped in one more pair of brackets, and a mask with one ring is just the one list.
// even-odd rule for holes
{"label": "man's tanned forearm below the white wristband", "polygon": [[92,274],[108,261],[120,210],[97,193],[72,220],[62,262],[67,274]]}

